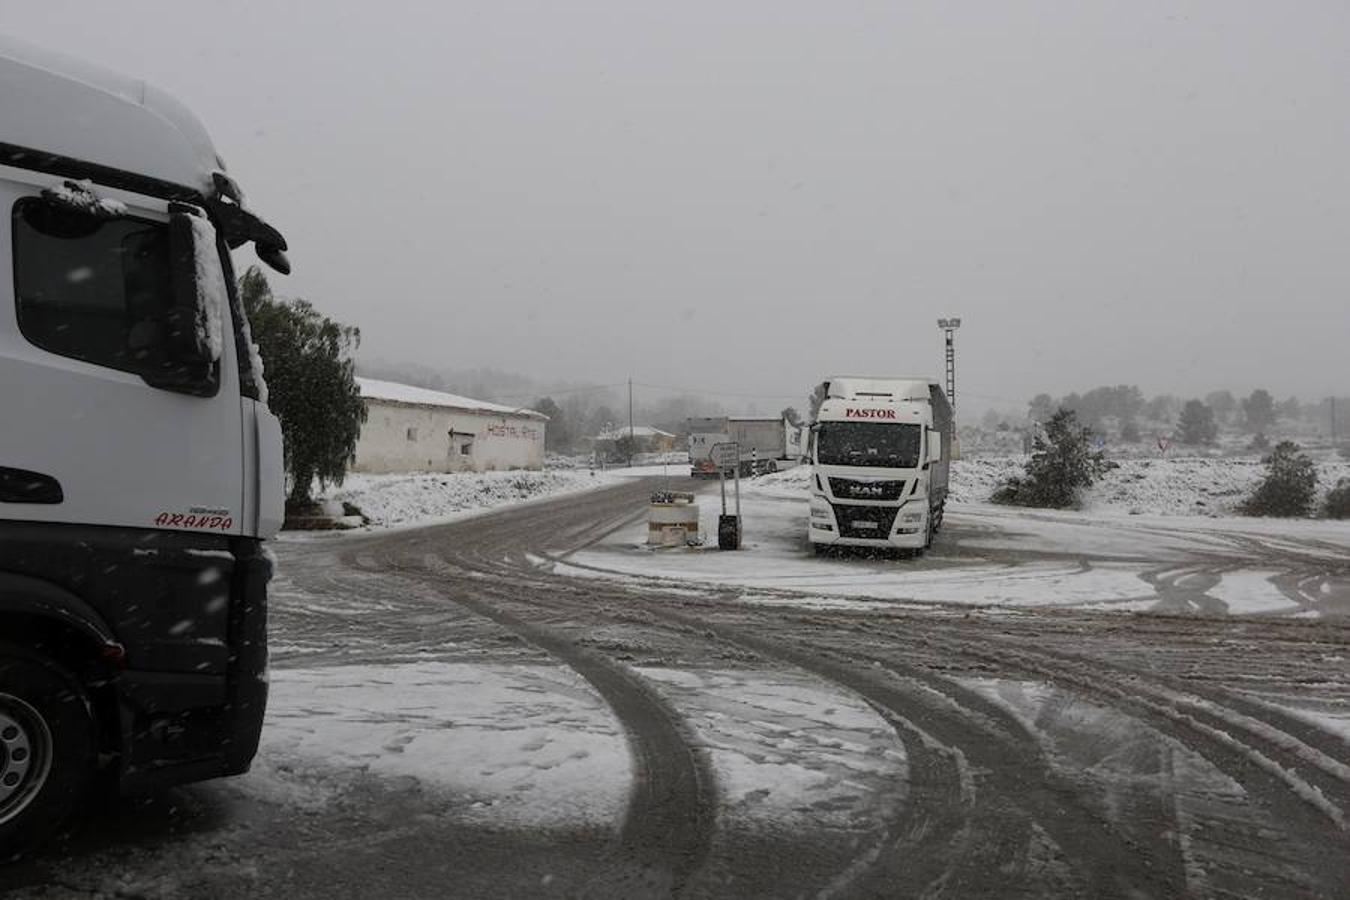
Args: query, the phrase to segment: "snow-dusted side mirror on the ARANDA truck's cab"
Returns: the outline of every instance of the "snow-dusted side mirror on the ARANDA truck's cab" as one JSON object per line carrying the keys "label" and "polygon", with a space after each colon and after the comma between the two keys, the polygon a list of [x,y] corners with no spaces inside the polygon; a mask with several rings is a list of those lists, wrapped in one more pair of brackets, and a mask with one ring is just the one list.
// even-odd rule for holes
{"label": "snow-dusted side mirror on the ARANDA truck's cab", "polygon": [[169,205],[169,285],[163,364],[142,376],[153,387],[212,397],[220,389],[228,293],[216,229],[188,204]]}

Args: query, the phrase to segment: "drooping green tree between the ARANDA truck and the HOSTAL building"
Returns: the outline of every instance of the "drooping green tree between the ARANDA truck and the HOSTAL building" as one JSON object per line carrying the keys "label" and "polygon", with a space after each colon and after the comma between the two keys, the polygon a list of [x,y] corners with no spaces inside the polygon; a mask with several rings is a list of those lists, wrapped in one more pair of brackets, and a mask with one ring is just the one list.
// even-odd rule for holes
{"label": "drooping green tree between the ARANDA truck and the HOSTAL building", "polygon": [[321,314],[308,301],[273,297],[267,278],[250,266],[239,297],[267,378],[267,405],[281,420],[292,509],[310,505],[323,490],[342,484],[356,457],[366,405],[356,386],[352,355],[360,331]]}

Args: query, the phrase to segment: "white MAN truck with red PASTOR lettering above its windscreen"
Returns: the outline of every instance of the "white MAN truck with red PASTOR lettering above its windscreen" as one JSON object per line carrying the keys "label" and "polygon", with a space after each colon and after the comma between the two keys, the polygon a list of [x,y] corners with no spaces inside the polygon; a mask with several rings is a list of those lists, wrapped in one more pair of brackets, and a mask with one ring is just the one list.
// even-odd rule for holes
{"label": "white MAN truck with red PASTOR lettering above its windscreen", "polygon": [[822,387],[810,437],[811,546],[922,552],[946,506],[946,394],[922,378],[837,376]]}

